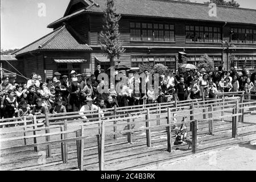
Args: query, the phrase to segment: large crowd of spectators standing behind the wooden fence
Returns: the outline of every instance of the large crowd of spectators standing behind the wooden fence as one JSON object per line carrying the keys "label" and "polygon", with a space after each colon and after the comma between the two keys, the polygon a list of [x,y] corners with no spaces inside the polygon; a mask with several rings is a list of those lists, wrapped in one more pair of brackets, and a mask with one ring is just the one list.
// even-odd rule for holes
{"label": "large crowd of spectators standing behind the wooden fence", "polygon": [[[256,93],[256,67],[251,75],[246,67],[241,72],[238,72],[237,67],[225,71],[222,63],[213,72],[206,72],[205,68],[184,72],[170,70],[160,76],[157,93],[147,70],[144,71],[144,78],[127,78],[127,84],[119,86],[118,92],[115,89],[118,82],[104,88],[104,80],[96,79],[100,73],[104,73],[100,65],[90,76],[71,71],[68,77],[55,72],[46,82],[42,81],[40,75],[32,73],[25,84],[17,84],[15,75],[3,76],[0,90],[1,118],[86,110],[103,112],[114,106],[167,102],[168,96],[182,101],[201,97],[215,98],[217,92],[244,90],[246,94]],[[146,92],[142,92],[143,87]],[[134,92],[136,88],[137,92]]]}

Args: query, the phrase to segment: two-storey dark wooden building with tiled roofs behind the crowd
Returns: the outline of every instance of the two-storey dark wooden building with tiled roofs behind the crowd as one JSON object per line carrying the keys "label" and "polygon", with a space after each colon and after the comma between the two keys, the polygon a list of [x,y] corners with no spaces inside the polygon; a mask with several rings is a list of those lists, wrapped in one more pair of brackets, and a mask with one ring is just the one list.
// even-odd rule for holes
{"label": "two-storey dark wooden building with tiled roofs behind the crowd", "polygon": [[[207,53],[229,69],[221,43],[226,40],[236,45],[229,52],[236,55],[238,69],[256,66],[256,10],[217,6],[217,16],[209,16],[209,5],[171,0],[116,0],[115,7],[122,16],[119,39],[126,49],[120,64],[138,69],[143,63],[162,63],[175,69],[178,52],[187,53],[192,64]],[[48,24],[50,34],[15,52],[20,72],[27,77],[36,72],[44,79],[56,71],[90,74],[97,64],[107,69],[110,63],[98,36],[105,9],[106,0],[71,0],[64,16]]]}

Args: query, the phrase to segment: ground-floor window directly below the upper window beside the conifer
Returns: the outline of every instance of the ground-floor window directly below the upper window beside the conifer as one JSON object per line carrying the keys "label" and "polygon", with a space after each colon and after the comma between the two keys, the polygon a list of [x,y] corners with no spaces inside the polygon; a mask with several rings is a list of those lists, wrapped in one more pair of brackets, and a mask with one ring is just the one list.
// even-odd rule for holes
{"label": "ground-floor window directly below the upper window beside the conifer", "polygon": [[175,56],[131,56],[131,67],[138,68],[139,65],[150,64],[163,64],[169,69],[175,69]]}

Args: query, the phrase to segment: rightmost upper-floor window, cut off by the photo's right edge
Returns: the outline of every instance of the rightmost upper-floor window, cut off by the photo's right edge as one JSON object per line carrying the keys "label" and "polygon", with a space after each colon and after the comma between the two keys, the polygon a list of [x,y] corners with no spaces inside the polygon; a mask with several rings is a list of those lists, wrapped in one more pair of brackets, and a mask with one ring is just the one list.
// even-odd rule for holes
{"label": "rightmost upper-floor window, cut off by the photo's right edge", "polygon": [[256,43],[256,30],[249,28],[231,28],[234,32],[232,42],[234,43]]}

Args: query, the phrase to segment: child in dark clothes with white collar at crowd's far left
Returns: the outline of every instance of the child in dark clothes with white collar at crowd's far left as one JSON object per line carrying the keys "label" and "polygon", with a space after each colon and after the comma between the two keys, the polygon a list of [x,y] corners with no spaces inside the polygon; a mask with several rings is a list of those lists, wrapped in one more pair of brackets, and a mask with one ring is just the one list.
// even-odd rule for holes
{"label": "child in dark clothes with white collar at crowd's far left", "polygon": [[5,98],[5,101],[3,101],[5,118],[15,118],[15,111],[18,108],[18,102],[14,96],[14,90],[8,90],[8,96]]}

